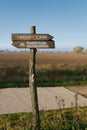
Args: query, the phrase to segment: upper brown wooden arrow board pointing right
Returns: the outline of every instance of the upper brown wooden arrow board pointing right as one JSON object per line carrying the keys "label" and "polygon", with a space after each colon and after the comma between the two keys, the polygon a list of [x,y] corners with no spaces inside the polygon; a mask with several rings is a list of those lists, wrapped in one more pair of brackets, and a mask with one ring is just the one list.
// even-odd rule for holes
{"label": "upper brown wooden arrow board pointing right", "polygon": [[53,37],[49,34],[12,34],[12,41],[44,41],[44,40],[51,40]]}

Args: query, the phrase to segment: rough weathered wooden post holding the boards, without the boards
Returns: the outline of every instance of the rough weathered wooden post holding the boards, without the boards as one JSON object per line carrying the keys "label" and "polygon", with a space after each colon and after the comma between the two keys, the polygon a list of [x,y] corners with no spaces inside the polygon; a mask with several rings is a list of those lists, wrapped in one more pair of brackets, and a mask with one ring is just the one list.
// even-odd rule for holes
{"label": "rough weathered wooden post holding the boards, without the boards", "polygon": [[[30,28],[30,33],[36,33],[36,27],[32,26]],[[32,102],[32,116],[33,116],[33,128],[32,130],[40,129],[39,122],[39,108],[38,108],[38,96],[37,96],[37,87],[36,87],[36,76],[35,76],[35,56],[36,48],[30,48],[30,58],[29,58],[29,87],[31,93],[31,102]]]}

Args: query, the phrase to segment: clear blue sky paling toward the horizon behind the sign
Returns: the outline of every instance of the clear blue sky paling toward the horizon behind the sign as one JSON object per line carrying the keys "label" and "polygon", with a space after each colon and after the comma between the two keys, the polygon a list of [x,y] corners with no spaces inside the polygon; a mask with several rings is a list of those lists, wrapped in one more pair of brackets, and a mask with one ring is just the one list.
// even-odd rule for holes
{"label": "clear blue sky paling toward the horizon behind the sign", "polygon": [[0,0],[0,49],[15,50],[11,34],[32,25],[54,37],[55,51],[87,48],[87,0]]}

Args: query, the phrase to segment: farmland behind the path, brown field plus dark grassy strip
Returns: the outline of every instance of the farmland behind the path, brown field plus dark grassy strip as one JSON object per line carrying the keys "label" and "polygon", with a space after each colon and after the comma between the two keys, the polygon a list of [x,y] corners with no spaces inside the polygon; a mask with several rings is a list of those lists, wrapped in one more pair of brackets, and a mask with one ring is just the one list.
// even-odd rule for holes
{"label": "farmland behind the path, brown field plus dark grassy strip", "polygon": [[[0,86],[28,85],[29,52],[0,53]],[[87,54],[37,52],[38,87],[87,86]]]}

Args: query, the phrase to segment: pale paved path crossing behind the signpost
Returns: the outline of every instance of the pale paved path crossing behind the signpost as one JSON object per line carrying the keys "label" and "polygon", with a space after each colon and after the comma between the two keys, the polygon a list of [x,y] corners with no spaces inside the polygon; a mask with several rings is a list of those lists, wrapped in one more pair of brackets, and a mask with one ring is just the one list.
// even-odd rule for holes
{"label": "pale paved path crossing behind the signpost", "polygon": [[[38,99],[40,110],[58,109],[58,103],[61,102],[62,107],[62,101],[64,101],[65,107],[71,107],[71,102],[75,104],[75,92],[64,87],[38,88]],[[87,98],[78,95],[78,105],[87,106]],[[0,89],[0,114],[31,111],[29,88]]]}

